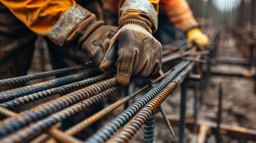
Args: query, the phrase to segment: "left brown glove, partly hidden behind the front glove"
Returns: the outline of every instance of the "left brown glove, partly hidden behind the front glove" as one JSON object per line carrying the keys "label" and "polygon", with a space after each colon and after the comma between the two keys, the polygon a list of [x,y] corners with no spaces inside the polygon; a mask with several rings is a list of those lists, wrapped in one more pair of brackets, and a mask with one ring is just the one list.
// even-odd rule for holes
{"label": "left brown glove, partly hidden behind the front glove", "polygon": [[84,20],[77,32],[81,33],[78,40],[78,47],[91,58],[97,66],[106,54],[107,48],[112,37],[118,32],[118,27],[105,26],[103,21],[97,21],[93,14],[87,20]]}

